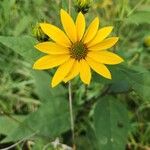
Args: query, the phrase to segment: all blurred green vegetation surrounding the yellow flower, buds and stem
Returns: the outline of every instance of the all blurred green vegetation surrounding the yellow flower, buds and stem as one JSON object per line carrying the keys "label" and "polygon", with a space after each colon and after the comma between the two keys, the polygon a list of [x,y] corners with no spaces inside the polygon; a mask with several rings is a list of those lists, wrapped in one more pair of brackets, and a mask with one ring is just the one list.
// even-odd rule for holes
{"label": "all blurred green vegetation surrounding the yellow flower, buds and stem", "polygon": [[[0,149],[20,141],[12,149],[51,150],[56,138],[72,145],[67,85],[51,89],[53,71],[32,70],[40,55],[34,27],[60,26],[59,10],[67,4],[0,1]],[[150,1],[95,0],[87,21],[96,15],[101,27],[114,26],[120,41],[112,50],[126,63],[110,67],[112,81],[96,74],[89,86],[73,80],[77,150],[150,150]]]}

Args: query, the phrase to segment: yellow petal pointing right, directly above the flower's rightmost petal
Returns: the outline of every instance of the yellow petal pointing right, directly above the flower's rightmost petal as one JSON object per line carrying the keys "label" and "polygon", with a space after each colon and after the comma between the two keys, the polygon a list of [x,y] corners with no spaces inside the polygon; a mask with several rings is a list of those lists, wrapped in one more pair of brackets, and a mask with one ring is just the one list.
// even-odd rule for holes
{"label": "yellow petal pointing right, directly above the flower's rightmost petal", "polygon": [[89,47],[88,49],[90,51],[106,50],[106,49],[114,46],[117,43],[118,39],[119,39],[118,37],[111,37],[111,38],[108,38],[108,39],[102,41],[99,44]]}

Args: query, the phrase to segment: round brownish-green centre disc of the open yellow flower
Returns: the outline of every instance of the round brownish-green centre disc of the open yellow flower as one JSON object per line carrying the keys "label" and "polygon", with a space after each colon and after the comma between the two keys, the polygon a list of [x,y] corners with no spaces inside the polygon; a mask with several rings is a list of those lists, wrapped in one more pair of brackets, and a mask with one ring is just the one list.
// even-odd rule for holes
{"label": "round brownish-green centre disc of the open yellow flower", "polygon": [[71,46],[70,54],[71,57],[76,60],[84,59],[87,55],[87,47],[80,41],[76,42]]}

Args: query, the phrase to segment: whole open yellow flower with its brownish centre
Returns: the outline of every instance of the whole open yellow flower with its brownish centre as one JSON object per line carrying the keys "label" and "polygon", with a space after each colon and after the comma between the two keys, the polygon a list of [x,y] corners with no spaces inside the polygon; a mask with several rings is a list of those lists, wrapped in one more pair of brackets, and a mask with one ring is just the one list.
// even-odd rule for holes
{"label": "whole open yellow flower with its brownish centre", "polygon": [[81,12],[75,23],[64,10],[60,11],[60,16],[66,34],[52,24],[40,24],[43,32],[53,41],[35,46],[47,55],[38,59],[33,68],[44,70],[59,66],[52,78],[52,87],[62,81],[68,82],[77,75],[80,75],[85,84],[89,84],[91,69],[111,79],[111,73],[105,64],[114,65],[123,62],[121,57],[106,50],[118,41],[118,37],[106,38],[113,27],[98,29],[99,19],[96,17],[85,31],[85,17]]}

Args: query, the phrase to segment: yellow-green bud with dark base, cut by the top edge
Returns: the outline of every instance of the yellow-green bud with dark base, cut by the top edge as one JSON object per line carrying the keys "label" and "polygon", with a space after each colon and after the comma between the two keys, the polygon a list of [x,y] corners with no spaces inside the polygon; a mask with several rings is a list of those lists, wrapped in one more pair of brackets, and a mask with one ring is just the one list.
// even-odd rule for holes
{"label": "yellow-green bud with dark base, cut by the top edge", "polygon": [[92,2],[93,0],[76,0],[75,8],[77,12],[82,12],[83,14],[86,14],[89,11]]}

